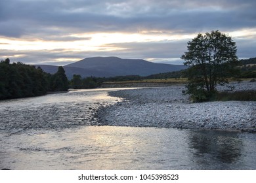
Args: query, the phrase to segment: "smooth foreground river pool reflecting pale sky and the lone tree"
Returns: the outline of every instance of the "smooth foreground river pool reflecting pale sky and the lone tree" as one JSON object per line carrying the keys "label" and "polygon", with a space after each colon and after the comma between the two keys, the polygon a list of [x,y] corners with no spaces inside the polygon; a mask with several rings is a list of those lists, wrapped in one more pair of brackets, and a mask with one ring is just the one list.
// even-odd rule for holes
{"label": "smooth foreground river pool reflecting pale sky and the lone tree", "polygon": [[250,133],[85,126],[1,139],[1,168],[256,169]]}

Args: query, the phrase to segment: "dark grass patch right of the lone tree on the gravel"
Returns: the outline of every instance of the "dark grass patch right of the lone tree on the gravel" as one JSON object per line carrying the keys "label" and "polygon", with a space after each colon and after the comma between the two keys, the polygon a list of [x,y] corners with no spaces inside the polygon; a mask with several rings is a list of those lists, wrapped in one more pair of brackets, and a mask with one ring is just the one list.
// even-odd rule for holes
{"label": "dark grass patch right of the lone tree on the gravel", "polygon": [[215,101],[256,101],[256,91],[218,92]]}

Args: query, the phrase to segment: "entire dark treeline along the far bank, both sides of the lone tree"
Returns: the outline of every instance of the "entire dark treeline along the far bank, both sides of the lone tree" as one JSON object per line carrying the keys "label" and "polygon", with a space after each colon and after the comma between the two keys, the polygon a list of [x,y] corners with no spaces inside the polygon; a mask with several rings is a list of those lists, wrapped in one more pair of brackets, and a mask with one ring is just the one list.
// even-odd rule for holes
{"label": "entire dark treeline along the far bank, both sides of the lone tree", "polygon": [[[256,58],[240,60],[238,78],[256,78]],[[21,62],[10,63],[10,59],[0,62],[0,99],[13,99],[18,97],[33,97],[45,95],[47,92],[67,91],[68,88],[97,88],[103,82],[120,82],[146,79],[164,79],[186,77],[186,70],[160,73],[150,76],[115,76],[109,78],[87,77],[74,75],[68,80],[63,67],[51,75],[45,73],[40,67],[26,65]]]}

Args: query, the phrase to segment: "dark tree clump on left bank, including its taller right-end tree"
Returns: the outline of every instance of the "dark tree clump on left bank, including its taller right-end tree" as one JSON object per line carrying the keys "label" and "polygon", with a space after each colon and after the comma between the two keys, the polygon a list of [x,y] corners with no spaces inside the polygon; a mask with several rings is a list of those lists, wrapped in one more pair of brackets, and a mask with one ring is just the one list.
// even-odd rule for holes
{"label": "dark tree clump on left bank, including its taller right-end tree", "polygon": [[50,75],[40,67],[21,62],[10,63],[8,58],[0,62],[0,99],[33,97],[67,90],[68,78],[62,67]]}

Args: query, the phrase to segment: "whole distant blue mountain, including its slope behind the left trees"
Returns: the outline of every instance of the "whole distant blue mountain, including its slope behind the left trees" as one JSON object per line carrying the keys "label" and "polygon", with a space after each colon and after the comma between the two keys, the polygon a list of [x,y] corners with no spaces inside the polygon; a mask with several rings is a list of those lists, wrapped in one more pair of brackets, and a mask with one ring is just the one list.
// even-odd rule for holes
{"label": "whole distant blue mountain, including its slope behind the left trees", "polygon": [[[58,66],[37,65],[47,73],[55,73]],[[143,59],[121,59],[117,57],[85,58],[64,66],[68,78],[75,75],[83,77],[110,77],[125,75],[148,76],[158,73],[180,71],[186,69],[184,65],[171,65],[165,63],[152,63]]]}

